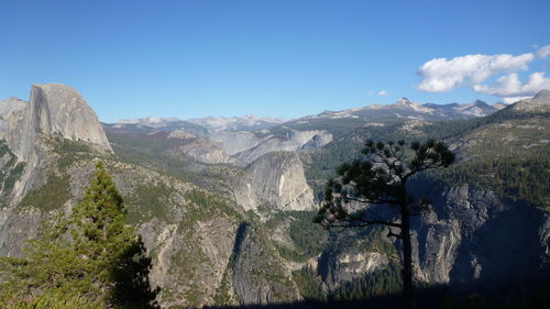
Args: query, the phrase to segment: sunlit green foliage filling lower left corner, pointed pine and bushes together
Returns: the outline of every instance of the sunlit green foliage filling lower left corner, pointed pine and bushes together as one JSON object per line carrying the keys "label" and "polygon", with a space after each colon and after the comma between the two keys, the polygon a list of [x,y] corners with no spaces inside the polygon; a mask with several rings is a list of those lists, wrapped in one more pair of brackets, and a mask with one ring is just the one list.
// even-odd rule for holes
{"label": "sunlit green foliage filling lower left corner, pointed pine and bushes together", "polygon": [[122,197],[98,164],[69,219],[45,227],[24,258],[0,260],[0,308],[156,308],[151,258],[124,221]]}

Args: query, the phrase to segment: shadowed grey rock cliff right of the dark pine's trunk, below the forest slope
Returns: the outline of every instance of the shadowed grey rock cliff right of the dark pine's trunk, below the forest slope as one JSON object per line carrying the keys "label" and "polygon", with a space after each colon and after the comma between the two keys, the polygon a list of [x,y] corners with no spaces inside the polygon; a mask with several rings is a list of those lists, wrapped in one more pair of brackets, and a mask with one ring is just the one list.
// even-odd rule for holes
{"label": "shadowed grey rock cliff right of the dark pine's trunk, below the forest slope", "polygon": [[539,273],[549,213],[470,185],[431,195],[433,211],[413,224],[417,275],[430,283],[510,284]]}

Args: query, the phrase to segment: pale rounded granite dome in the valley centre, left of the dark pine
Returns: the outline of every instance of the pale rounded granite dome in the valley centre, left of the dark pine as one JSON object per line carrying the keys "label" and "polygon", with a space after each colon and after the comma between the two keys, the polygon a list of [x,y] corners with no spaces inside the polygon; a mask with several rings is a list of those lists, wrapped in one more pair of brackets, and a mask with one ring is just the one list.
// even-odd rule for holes
{"label": "pale rounded granite dome in the valley centre, left of the dark pine", "polygon": [[314,194],[294,152],[271,152],[258,157],[238,179],[234,197],[245,210],[312,210]]}

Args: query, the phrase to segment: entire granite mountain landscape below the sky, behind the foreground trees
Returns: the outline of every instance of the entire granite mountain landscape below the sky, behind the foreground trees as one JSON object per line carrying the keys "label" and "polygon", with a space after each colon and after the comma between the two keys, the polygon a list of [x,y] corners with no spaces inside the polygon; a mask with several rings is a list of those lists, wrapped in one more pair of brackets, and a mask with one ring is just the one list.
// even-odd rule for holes
{"label": "entire granite mountain landscape below the sky, behind the foreground trees", "polygon": [[329,232],[311,218],[326,179],[366,139],[433,137],[458,162],[411,181],[432,203],[413,222],[416,279],[527,285],[549,274],[549,115],[542,90],[506,107],[403,98],[294,120],[107,124],[77,90],[33,85],[29,102],[0,101],[0,255],[22,255],[40,222],[67,213],[100,159],[152,256],[164,308],[338,299],[365,285],[393,290],[399,243],[387,231]]}

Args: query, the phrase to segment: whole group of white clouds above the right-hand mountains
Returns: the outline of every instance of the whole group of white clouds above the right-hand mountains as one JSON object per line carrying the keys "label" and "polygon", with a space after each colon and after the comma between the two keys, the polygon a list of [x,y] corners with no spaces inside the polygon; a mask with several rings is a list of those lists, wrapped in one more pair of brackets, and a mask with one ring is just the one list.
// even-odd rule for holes
{"label": "whole group of white clouds above the right-hand mountains", "polygon": [[[521,55],[465,55],[447,58],[433,58],[425,63],[418,75],[422,78],[418,90],[444,92],[458,87],[472,87],[479,93],[501,97],[510,103],[535,96],[542,89],[550,89],[550,78],[546,71],[531,73],[522,82],[519,71],[527,71],[529,64],[550,56],[550,45],[540,47],[535,53]],[[497,77],[492,85],[484,85]]]}

